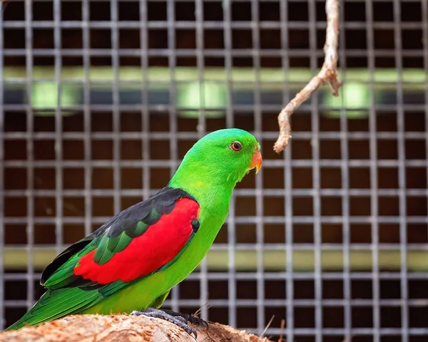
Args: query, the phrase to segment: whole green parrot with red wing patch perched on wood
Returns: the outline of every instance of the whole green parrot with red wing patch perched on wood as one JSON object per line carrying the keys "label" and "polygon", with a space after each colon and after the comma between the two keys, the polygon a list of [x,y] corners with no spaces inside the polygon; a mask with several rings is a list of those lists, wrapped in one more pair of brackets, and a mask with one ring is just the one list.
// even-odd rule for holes
{"label": "whole green parrot with red wing patch perched on wood", "polygon": [[170,321],[196,337],[189,323],[208,328],[206,321],[161,306],[208,253],[237,183],[262,163],[260,143],[245,130],[203,136],[156,195],[58,254],[41,274],[46,292],[6,330],[70,314],[131,314]]}

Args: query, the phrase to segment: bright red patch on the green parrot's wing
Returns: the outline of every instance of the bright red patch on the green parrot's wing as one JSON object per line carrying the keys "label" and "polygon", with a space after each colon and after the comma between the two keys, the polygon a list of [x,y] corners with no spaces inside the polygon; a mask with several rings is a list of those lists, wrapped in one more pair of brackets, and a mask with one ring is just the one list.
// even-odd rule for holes
{"label": "bright red patch on the green parrot's wing", "polygon": [[140,237],[106,262],[93,261],[95,250],[81,257],[74,274],[98,284],[113,281],[132,281],[168,264],[188,242],[193,232],[191,221],[198,218],[199,204],[193,199],[181,198],[172,212],[164,214]]}

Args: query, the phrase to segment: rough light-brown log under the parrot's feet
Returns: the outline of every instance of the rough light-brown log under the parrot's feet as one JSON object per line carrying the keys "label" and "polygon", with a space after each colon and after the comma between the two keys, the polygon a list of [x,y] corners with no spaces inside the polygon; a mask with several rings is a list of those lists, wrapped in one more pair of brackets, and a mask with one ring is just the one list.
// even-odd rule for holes
{"label": "rough light-brown log under the parrot's feet", "polygon": [[[198,342],[272,342],[267,338],[238,331],[231,326],[210,323],[210,328],[194,326]],[[173,323],[159,318],[128,315],[73,315],[41,326],[0,333],[0,341],[8,342],[195,342],[195,338]]]}

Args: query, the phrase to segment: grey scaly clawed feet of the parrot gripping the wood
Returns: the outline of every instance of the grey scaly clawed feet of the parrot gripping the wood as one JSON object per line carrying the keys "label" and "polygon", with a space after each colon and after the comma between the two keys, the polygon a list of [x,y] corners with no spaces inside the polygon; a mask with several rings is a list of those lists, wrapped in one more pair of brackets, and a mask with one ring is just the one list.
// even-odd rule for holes
{"label": "grey scaly clawed feet of the parrot gripping the wood", "polygon": [[192,334],[195,335],[195,338],[198,337],[198,334],[196,333],[194,328],[188,325],[188,322],[198,326],[205,326],[205,328],[208,329],[208,323],[204,321],[202,318],[194,317],[189,314],[180,314],[172,310],[147,308],[146,310],[143,310],[143,311],[132,311],[131,315],[132,316],[144,315],[148,317],[164,319],[165,321],[174,323],[176,326],[179,326],[189,335],[192,335]]}

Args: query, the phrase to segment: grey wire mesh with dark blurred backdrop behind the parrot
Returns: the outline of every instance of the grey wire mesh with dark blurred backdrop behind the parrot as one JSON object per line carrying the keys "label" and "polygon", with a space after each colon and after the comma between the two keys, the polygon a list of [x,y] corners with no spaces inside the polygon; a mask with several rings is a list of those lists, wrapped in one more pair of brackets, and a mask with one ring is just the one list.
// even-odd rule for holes
{"label": "grey wire mesh with dark blurred backdrop behind the parrot", "polygon": [[[249,130],[203,264],[165,307],[287,341],[428,334],[428,2],[340,1],[340,97],[277,114],[322,66],[325,1],[11,0],[0,18],[0,328],[69,244]],[[208,303],[208,304],[207,304]],[[138,308],[136,308],[138,309]]]}

